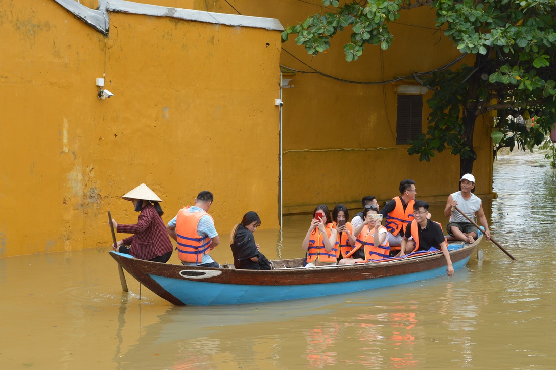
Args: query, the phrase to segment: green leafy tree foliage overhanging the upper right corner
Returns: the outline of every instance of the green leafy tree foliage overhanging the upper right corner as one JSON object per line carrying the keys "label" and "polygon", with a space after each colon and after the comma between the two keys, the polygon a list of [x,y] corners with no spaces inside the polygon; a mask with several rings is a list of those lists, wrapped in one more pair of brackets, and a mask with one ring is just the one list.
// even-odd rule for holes
{"label": "green leafy tree foliage overhanging the upper right corner", "polygon": [[[435,9],[435,27],[445,29],[462,53],[475,56],[473,66],[432,73],[424,81],[433,96],[424,135],[411,142],[410,154],[429,161],[435,152],[449,149],[460,156],[461,173],[471,172],[476,153],[473,131],[476,118],[490,111],[500,117],[495,150],[533,149],[540,145],[556,121],[556,69],[554,0],[322,0],[333,11],[321,12],[282,33],[285,42],[296,36],[297,45],[317,55],[345,28],[351,40],[344,45],[347,61],[356,61],[365,46],[387,50],[393,42],[388,24],[400,11],[420,6]],[[527,113],[525,112],[527,111]],[[532,129],[516,125],[508,116],[535,116]]]}

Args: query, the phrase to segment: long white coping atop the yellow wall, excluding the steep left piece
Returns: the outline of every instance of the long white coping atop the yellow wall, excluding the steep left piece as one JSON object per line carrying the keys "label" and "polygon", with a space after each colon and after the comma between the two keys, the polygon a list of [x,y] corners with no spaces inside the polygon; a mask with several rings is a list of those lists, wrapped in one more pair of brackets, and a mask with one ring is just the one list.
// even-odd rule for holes
{"label": "long white coping atop the yellow wall, excluding the steep left piece", "polygon": [[112,12],[144,14],[146,16],[172,17],[186,21],[225,24],[226,26],[264,28],[270,31],[284,31],[275,18],[241,16],[239,14],[212,13],[193,9],[171,8],[158,5],[136,3],[126,0],[106,0],[106,9]]}

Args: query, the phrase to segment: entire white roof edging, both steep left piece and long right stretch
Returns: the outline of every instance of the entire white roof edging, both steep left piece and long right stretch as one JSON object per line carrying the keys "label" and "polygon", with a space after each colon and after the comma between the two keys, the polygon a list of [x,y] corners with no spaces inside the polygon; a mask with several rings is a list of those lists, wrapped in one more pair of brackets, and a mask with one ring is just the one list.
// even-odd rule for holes
{"label": "entire white roof edging, both steep left piece and long right stretch", "polygon": [[284,31],[280,21],[275,18],[241,16],[239,14],[212,13],[193,9],[171,8],[142,4],[125,0],[98,0],[98,10],[91,9],[75,0],[54,0],[83,22],[97,31],[108,34],[110,23],[108,11],[142,14],[154,17],[172,17],[185,21],[225,24],[232,27],[264,28],[269,31]]}

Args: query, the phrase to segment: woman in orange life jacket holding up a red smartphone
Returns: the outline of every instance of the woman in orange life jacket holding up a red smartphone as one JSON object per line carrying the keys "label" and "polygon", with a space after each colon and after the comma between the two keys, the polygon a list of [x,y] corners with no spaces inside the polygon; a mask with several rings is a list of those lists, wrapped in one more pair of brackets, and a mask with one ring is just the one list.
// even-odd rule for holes
{"label": "woman in orange life jacket holding up a red smartphone", "polygon": [[313,212],[311,226],[301,244],[307,251],[305,267],[336,264],[336,229],[332,228],[330,211],[326,204],[317,206]]}

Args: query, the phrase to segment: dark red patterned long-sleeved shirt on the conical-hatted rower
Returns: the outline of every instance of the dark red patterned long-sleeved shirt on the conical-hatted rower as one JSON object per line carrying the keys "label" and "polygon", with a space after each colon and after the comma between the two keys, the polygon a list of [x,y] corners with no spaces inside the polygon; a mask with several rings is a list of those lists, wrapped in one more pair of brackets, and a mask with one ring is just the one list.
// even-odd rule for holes
{"label": "dark red patterned long-sleeved shirt on the conical-hatted rower", "polygon": [[123,245],[131,245],[130,254],[138,259],[153,259],[173,250],[166,225],[152,204],[141,210],[136,224],[118,224],[118,233],[133,234],[123,239]]}

